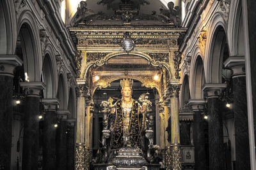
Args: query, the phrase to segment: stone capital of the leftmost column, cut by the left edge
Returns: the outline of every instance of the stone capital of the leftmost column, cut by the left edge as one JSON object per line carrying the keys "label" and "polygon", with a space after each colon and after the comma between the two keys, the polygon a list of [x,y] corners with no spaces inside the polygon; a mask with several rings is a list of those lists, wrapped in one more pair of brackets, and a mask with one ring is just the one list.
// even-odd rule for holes
{"label": "stone capital of the leftmost column, cut by the left edge", "polygon": [[22,60],[17,55],[0,55],[0,75],[13,76],[17,66],[22,66]]}

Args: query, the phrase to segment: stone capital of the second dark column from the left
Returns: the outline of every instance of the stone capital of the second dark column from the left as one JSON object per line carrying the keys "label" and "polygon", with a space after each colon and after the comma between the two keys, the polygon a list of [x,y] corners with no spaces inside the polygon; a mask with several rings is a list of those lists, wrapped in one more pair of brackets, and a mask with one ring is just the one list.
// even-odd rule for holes
{"label": "stone capital of the second dark column from the left", "polygon": [[25,94],[29,97],[39,97],[42,89],[46,88],[45,83],[41,81],[25,81],[20,82],[20,87],[23,87]]}

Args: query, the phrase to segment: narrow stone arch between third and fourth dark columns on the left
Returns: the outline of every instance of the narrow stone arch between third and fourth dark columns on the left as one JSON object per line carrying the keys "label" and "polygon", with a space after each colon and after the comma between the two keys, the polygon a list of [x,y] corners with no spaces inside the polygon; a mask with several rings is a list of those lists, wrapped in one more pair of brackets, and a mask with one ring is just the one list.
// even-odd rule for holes
{"label": "narrow stone arch between third and fourth dark columns on the left", "polygon": [[56,97],[60,99],[60,110],[68,108],[68,87],[65,71],[61,70],[58,76],[58,91]]}

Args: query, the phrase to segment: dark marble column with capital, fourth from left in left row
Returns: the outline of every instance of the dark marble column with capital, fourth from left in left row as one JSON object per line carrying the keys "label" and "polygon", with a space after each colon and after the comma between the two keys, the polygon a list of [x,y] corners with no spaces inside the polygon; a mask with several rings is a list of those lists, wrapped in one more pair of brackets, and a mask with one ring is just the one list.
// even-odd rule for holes
{"label": "dark marble column with capital, fourth from left in left row", "polygon": [[58,127],[56,129],[56,169],[67,170],[67,117],[68,110],[58,110]]}

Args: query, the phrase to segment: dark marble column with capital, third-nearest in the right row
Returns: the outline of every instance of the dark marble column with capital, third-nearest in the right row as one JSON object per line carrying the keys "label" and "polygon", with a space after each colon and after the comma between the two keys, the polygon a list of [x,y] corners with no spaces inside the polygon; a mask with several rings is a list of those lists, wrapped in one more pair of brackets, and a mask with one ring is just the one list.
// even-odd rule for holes
{"label": "dark marble column with capital, third-nearest in the right row", "polygon": [[205,151],[205,126],[204,110],[205,101],[202,99],[189,100],[189,106],[194,112],[193,120],[193,141],[195,146],[195,170],[207,169],[206,151]]}

